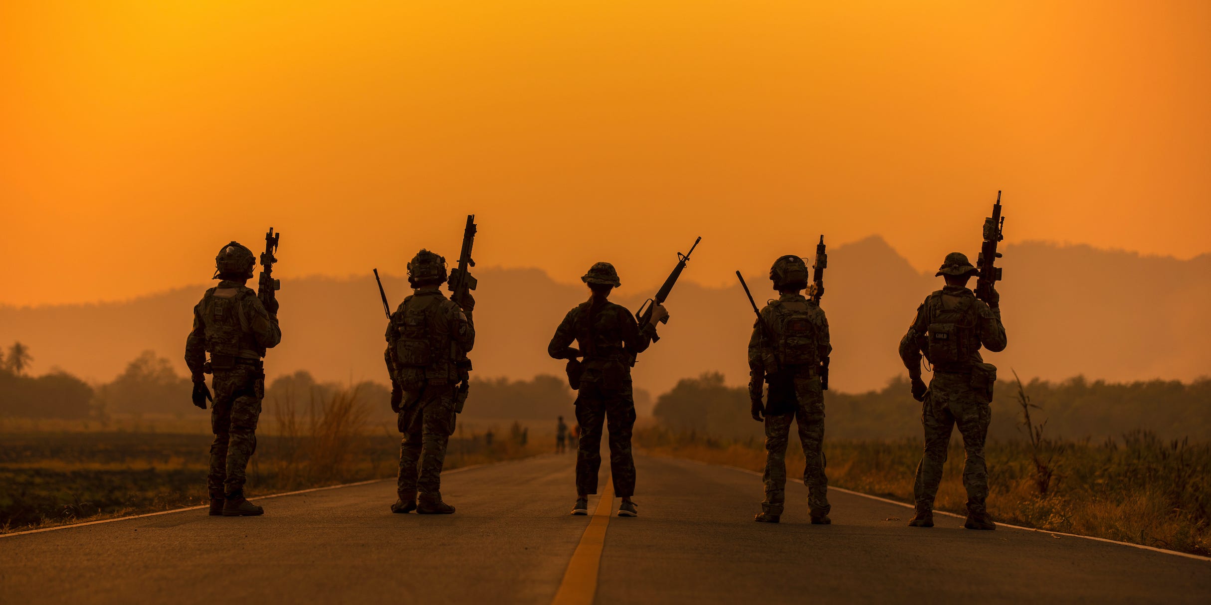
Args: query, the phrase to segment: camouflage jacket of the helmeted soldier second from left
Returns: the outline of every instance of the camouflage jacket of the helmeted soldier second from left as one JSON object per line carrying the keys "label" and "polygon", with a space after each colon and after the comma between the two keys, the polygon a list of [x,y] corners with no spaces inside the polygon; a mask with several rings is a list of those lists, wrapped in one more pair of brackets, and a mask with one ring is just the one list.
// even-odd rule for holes
{"label": "camouflage jacket of the helmeted soldier second from left", "polygon": [[386,325],[388,374],[404,391],[425,384],[466,380],[466,353],[475,346],[475,322],[437,286],[425,286],[400,302]]}

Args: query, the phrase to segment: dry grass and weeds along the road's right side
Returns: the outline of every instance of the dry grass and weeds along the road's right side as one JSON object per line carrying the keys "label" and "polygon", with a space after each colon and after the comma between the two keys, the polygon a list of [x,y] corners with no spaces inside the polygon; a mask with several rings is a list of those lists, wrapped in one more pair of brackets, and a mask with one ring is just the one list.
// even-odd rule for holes
{"label": "dry grass and weeds along the road's right side", "polygon": [[[661,427],[636,431],[647,453],[729,465],[761,472],[764,444],[728,440]],[[793,438],[787,477],[803,468],[803,450]],[[1045,440],[1049,489],[1039,491],[1038,450],[1025,440],[989,442],[988,509],[993,518],[1050,531],[1211,554],[1211,444],[1161,440],[1136,431],[1102,443]],[[923,443],[902,440],[825,440],[830,485],[912,503],[913,477]],[[1054,456],[1051,455],[1054,454]],[[965,514],[963,445],[951,442],[946,473],[935,508]],[[753,509],[762,495],[753,479]],[[905,509],[903,520],[911,517]]]}

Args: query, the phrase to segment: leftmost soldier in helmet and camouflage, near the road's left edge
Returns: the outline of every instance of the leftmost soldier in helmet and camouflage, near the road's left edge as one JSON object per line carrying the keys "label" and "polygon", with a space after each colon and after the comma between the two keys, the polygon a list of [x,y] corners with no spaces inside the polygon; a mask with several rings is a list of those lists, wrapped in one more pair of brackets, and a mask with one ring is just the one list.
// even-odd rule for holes
{"label": "leftmost soldier in helmet and camouflage, near the road's left edge", "polygon": [[[277,346],[277,299],[263,302],[245,286],[252,278],[257,259],[237,242],[228,243],[214,257],[218,286],[206,290],[194,307],[194,329],[185,339],[185,364],[194,380],[194,405],[206,409],[212,399],[211,471],[206,486],[211,514],[242,517],[264,513],[243,497],[248,459],[257,451],[257,420],[265,397],[266,348]],[[206,353],[211,355],[210,361]],[[214,394],[206,387],[206,374],[214,375]]]}

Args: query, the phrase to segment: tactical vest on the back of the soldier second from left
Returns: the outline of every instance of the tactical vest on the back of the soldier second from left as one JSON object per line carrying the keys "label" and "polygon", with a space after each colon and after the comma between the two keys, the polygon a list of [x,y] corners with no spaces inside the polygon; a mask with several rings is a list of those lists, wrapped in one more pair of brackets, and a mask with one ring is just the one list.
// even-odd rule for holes
{"label": "tactical vest on the back of the soldier second from left", "polygon": [[403,300],[403,311],[392,321],[400,340],[396,356],[400,361],[400,382],[404,391],[419,391],[425,385],[458,382],[458,362],[463,357],[458,342],[450,338],[441,294],[412,295]]}

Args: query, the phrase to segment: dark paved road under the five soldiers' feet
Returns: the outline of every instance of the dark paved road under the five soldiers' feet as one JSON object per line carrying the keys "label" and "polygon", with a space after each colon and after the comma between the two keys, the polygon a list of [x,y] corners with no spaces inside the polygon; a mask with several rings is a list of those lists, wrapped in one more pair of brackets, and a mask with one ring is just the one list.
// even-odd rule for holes
{"label": "dark paved road under the five soldiers' feet", "polygon": [[[590,517],[568,455],[449,474],[449,517],[398,515],[391,482],[265,500],[260,518],[186,511],[0,538],[0,603],[535,603],[555,597]],[[1048,532],[905,526],[833,492],[808,523],[790,486],[757,524],[761,480],[641,457],[639,517],[612,518],[597,603],[1206,603],[1211,563]],[[596,499],[590,507],[596,506]],[[618,501],[614,500],[616,507]]]}

